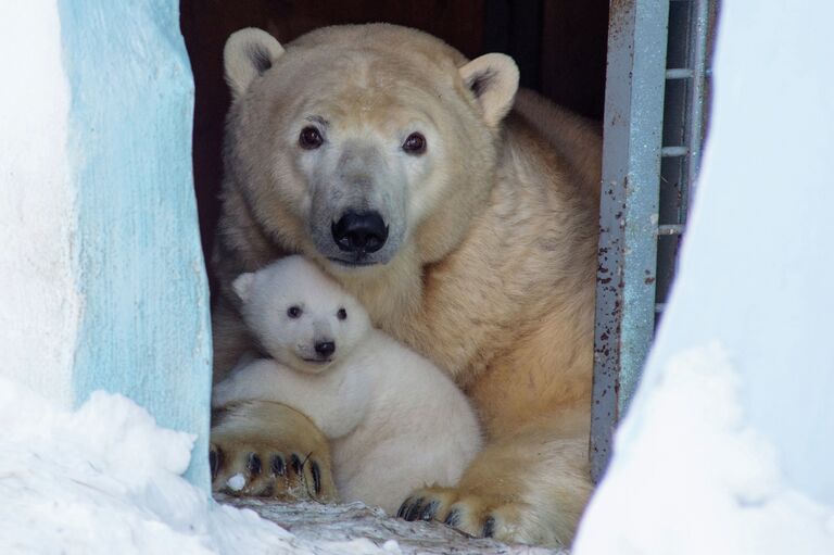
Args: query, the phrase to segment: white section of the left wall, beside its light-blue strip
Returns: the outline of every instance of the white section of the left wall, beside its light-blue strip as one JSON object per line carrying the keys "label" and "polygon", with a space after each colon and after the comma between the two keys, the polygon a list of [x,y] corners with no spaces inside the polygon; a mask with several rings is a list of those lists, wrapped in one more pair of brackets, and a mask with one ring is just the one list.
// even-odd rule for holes
{"label": "white section of the left wall, beside its light-blue strip", "polygon": [[68,406],[80,303],[58,3],[0,3],[0,373]]}

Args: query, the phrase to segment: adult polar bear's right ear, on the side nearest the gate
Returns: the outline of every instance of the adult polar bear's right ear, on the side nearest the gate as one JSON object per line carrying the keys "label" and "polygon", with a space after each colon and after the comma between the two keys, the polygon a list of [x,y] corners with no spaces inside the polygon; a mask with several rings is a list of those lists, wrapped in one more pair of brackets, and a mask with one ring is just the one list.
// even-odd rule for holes
{"label": "adult polar bear's right ear, on the side nearest the gate", "polygon": [[495,127],[513,108],[518,66],[506,54],[483,54],[460,67],[460,77],[478,99],[486,124]]}

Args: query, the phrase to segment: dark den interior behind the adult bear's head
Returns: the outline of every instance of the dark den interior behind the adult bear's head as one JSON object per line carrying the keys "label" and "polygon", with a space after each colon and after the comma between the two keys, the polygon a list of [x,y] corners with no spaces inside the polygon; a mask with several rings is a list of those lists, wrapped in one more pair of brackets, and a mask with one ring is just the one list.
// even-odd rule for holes
{"label": "dark den interior behind the adult bear's head", "polygon": [[197,94],[194,182],[206,260],[219,214],[229,103],[223,47],[228,36],[242,27],[261,27],[288,42],[326,25],[376,22],[426,30],[468,58],[507,53],[519,65],[522,86],[602,118],[608,0],[182,0],[180,23]]}

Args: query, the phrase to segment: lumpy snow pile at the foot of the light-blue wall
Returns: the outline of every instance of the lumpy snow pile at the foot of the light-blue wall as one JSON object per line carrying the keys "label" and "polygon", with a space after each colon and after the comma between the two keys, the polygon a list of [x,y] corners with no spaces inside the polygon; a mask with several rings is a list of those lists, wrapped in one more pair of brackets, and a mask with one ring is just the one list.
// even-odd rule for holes
{"label": "lumpy snow pile at the foot of the light-blue wall", "polygon": [[0,553],[399,553],[367,539],[296,538],[218,505],[180,477],[193,437],[128,399],[96,392],[77,412],[0,377]]}

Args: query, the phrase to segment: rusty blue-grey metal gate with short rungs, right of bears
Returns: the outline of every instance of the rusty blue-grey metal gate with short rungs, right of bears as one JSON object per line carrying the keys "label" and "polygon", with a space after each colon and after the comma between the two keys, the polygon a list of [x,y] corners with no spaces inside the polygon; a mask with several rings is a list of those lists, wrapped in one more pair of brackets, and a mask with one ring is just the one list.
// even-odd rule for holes
{"label": "rusty blue-grey metal gate with short rungs, right of bears", "polygon": [[595,481],[674,274],[704,143],[717,0],[610,3],[591,422]]}

